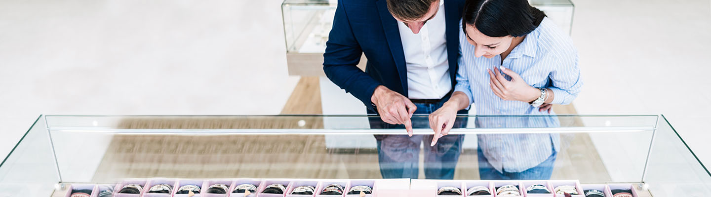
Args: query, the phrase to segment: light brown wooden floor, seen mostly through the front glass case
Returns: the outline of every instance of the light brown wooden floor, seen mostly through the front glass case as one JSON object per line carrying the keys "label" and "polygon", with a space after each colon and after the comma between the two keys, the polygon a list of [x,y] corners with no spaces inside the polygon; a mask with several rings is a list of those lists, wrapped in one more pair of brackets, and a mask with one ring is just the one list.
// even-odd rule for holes
{"label": "light brown wooden floor, seen mostly through the front glass case", "polygon": [[[572,105],[557,105],[553,109],[559,115],[577,113]],[[282,112],[321,114],[319,79],[301,78]],[[308,119],[307,124],[300,125],[299,120],[302,119],[304,117],[279,121],[270,117],[127,118],[120,127],[323,128],[320,118]],[[582,122],[579,119],[565,119],[565,124],[582,125]],[[564,143],[552,179],[611,181],[587,134],[562,134],[561,141]],[[455,179],[478,179],[476,155],[476,149],[461,152]],[[328,149],[323,135],[116,135],[92,181],[115,182],[125,178],[151,177],[381,178],[376,149]]]}

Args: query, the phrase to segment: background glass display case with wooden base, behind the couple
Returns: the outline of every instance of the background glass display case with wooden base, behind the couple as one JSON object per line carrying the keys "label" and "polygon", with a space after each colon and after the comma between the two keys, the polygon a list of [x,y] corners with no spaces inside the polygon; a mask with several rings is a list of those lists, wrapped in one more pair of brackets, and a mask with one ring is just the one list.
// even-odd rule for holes
{"label": "background glass display case with wooden base, behind the couple", "polygon": [[[530,0],[557,26],[570,33],[574,5],[570,0]],[[335,0],[284,0],[284,40],[289,75],[323,75],[324,52],[336,12]],[[362,58],[361,63],[365,61]]]}

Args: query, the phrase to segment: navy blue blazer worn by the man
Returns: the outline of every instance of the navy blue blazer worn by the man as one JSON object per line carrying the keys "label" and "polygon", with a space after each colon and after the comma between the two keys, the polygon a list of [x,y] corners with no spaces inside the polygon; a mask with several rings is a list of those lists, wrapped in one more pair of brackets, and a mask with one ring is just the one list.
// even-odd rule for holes
{"label": "navy blue blazer worn by the man", "polygon": [[[378,85],[407,97],[407,65],[398,21],[387,10],[386,0],[338,0],[333,28],[324,53],[324,73],[333,83],[373,110],[370,97]],[[464,0],[444,1],[447,58],[451,87],[456,82],[459,58],[459,21]],[[365,72],[356,67],[361,54]]]}

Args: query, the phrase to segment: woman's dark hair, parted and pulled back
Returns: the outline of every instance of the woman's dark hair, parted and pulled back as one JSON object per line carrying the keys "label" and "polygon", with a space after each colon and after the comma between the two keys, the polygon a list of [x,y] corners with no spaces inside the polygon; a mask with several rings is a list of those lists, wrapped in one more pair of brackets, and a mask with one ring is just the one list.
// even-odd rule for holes
{"label": "woman's dark hair, parted and pulled back", "polygon": [[474,25],[489,37],[525,36],[543,21],[543,11],[528,4],[528,0],[466,0],[463,25]]}

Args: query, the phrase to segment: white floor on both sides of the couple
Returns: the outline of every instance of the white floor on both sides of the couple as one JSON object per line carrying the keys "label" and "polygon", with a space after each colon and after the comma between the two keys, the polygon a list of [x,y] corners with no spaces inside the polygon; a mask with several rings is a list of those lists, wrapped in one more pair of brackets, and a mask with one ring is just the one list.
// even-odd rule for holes
{"label": "white floor on both sides of the couple", "polygon": [[[281,110],[280,0],[0,1],[0,155],[40,114]],[[711,4],[574,1],[582,114],[664,114],[711,164]]]}

